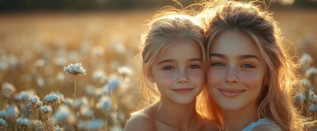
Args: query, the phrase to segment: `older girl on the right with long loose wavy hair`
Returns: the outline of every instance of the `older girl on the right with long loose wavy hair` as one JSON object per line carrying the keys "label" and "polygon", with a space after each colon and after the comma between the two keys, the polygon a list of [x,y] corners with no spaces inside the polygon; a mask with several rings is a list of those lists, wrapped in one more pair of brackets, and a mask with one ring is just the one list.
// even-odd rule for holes
{"label": "older girl on the right with long loose wavy hair", "polygon": [[302,130],[292,100],[298,66],[272,14],[253,2],[219,0],[205,5],[207,15],[207,83],[223,110],[221,130]]}

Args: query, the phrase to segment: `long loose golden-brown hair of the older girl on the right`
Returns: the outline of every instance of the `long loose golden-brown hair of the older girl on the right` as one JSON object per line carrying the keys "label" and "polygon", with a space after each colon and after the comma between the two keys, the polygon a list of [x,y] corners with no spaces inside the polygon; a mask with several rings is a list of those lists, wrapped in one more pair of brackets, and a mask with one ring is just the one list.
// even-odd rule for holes
{"label": "long loose golden-brown hair of the older girl on the right", "polygon": [[[237,30],[249,35],[265,61],[263,86],[257,100],[259,118],[273,120],[282,130],[302,130],[306,119],[300,115],[292,99],[299,80],[298,64],[284,45],[278,22],[255,2],[219,0],[205,3],[200,17],[205,16],[202,21],[208,25],[207,54],[215,38],[223,31]],[[212,15],[206,19],[208,14]],[[208,90],[204,93],[207,94]],[[206,99],[212,99],[206,96]]]}

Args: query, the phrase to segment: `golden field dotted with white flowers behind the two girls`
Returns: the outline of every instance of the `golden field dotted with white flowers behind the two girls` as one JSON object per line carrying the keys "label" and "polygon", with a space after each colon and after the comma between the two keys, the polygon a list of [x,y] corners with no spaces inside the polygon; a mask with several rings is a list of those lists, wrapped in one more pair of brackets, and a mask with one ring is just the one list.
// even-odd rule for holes
{"label": "golden field dotted with white flowers behind the two girls", "polygon": [[[0,130],[122,130],[140,103],[135,56],[154,13],[0,14]],[[317,111],[315,16],[274,13],[299,56],[306,116]]]}

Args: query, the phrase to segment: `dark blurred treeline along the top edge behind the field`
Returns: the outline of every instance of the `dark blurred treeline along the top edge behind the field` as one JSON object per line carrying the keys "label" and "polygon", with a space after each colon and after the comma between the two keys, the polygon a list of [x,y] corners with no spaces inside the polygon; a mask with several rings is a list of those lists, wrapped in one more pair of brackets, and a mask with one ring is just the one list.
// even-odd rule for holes
{"label": "dark blurred treeline along the top edge behind the field", "polygon": [[[196,0],[199,1],[199,0]],[[265,0],[268,3],[270,0]],[[288,0],[278,0],[288,1]],[[194,4],[194,0],[179,0],[183,6]],[[172,0],[0,0],[0,12],[21,11],[113,11],[130,9],[161,8],[176,3]],[[270,4],[270,8],[310,8],[317,9],[317,0],[295,0],[292,5],[279,2]]]}

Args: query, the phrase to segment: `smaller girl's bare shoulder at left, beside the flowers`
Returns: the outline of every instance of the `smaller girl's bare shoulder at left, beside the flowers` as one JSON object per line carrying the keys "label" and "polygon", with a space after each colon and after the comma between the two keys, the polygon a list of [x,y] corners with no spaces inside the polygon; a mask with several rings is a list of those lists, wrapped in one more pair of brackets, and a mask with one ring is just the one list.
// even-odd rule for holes
{"label": "smaller girl's bare shoulder at left, beside the flowers", "polygon": [[130,130],[155,130],[154,118],[144,110],[139,111],[131,116],[125,125],[124,131]]}

